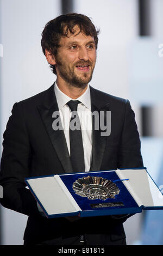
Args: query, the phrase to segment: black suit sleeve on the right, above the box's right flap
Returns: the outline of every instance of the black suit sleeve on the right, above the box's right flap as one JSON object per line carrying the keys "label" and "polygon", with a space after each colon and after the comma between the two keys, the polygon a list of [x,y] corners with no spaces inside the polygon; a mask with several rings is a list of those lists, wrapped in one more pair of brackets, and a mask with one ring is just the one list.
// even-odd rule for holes
{"label": "black suit sleeve on the right, above the box's right flap", "polygon": [[141,143],[135,122],[135,114],[131,109],[130,102],[126,100],[124,124],[118,150],[118,168],[143,167],[140,148]]}

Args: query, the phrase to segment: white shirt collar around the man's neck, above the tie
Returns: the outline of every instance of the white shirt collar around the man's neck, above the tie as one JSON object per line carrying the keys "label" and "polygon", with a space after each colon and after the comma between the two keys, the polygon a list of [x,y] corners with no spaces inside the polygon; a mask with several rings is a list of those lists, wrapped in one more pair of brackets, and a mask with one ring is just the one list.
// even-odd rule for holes
{"label": "white shirt collar around the man's neck, above the tie", "polygon": [[[58,108],[61,109],[66,105],[66,103],[71,99],[71,97],[68,97],[65,93],[62,93],[61,90],[58,88],[57,83],[54,84],[54,92],[55,96],[57,98]],[[90,86],[88,84],[86,91],[84,94],[82,94],[78,99],[80,102],[83,103],[83,105],[89,109],[91,109],[91,96],[90,96]]]}

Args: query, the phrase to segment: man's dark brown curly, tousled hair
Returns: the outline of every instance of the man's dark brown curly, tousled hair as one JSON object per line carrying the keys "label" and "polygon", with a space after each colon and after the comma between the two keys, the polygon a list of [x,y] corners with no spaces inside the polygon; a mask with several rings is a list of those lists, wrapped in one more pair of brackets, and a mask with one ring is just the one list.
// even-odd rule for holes
{"label": "man's dark brown curly, tousled hair", "polygon": [[[98,33],[95,26],[89,19],[89,17],[83,14],[70,13],[60,15],[54,20],[49,21],[42,32],[41,46],[42,51],[45,54],[45,50],[50,51],[53,56],[57,55],[57,50],[61,36],[67,36],[70,31],[72,34],[76,33],[74,26],[78,25],[79,33],[84,32],[86,35],[91,35],[95,39],[96,49],[98,44]],[[55,65],[50,65],[52,71],[57,75]]]}

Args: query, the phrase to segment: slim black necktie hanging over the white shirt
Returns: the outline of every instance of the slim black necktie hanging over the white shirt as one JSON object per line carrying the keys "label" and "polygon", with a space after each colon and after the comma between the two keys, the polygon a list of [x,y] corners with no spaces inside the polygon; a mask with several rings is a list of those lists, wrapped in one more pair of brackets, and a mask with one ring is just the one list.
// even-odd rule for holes
{"label": "slim black necktie hanging over the white shirt", "polygon": [[72,113],[70,120],[70,155],[74,172],[85,171],[82,130],[77,113],[79,103],[81,102],[78,100],[70,100],[67,103],[71,112],[76,111]]}

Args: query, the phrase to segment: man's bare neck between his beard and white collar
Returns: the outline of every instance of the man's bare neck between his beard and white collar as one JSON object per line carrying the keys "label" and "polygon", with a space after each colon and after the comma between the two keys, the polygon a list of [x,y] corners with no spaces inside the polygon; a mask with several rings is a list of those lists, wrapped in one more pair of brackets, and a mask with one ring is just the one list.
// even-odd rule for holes
{"label": "man's bare neck between his beard and white collar", "polygon": [[71,99],[77,99],[80,97],[83,93],[85,93],[87,89],[87,84],[84,84],[81,88],[75,87],[71,84],[67,84],[65,81],[61,82],[57,78],[57,86],[61,90],[62,93],[66,94],[68,97],[71,97]]}

